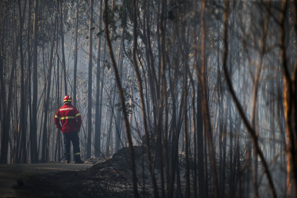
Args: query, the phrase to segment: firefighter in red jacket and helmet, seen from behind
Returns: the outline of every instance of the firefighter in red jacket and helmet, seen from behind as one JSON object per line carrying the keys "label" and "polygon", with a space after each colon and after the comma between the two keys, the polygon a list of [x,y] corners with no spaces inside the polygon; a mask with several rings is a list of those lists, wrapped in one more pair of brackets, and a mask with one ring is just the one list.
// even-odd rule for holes
{"label": "firefighter in red jacket and helmet, seen from behind", "polygon": [[72,141],[73,153],[75,154],[74,163],[83,164],[84,162],[80,159],[78,138],[78,132],[80,131],[81,126],[81,115],[79,111],[73,107],[71,96],[66,95],[64,97],[64,106],[57,111],[54,121],[57,128],[63,132],[65,164],[69,164],[70,162],[70,141]]}

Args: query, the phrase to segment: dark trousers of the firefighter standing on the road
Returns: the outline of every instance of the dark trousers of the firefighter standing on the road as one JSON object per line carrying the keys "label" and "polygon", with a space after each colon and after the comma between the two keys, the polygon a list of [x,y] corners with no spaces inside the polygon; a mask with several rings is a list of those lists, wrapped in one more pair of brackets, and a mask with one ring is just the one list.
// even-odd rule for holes
{"label": "dark trousers of the firefighter standing on the road", "polygon": [[79,148],[79,138],[78,138],[78,132],[64,132],[64,155],[65,160],[70,160],[70,141],[73,145],[73,153],[75,156],[80,155],[80,148]]}

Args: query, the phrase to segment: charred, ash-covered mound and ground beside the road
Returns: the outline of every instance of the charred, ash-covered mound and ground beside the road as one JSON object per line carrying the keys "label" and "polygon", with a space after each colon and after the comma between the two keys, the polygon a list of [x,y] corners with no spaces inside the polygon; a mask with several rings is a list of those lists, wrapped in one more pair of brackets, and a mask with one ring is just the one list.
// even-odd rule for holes
{"label": "charred, ash-covered mound and ground beside the road", "polygon": [[[134,146],[138,191],[142,197],[153,197],[151,175],[147,164],[146,149]],[[181,154],[181,152],[180,152]],[[181,161],[181,190],[185,188],[184,153]],[[129,148],[122,148],[112,157],[91,158],[85,164],[94,164],[87,170],[29,174],[23,183],[15,186],[19,197],[133,197]],[[71,165],[71,164],[70,164]],[[161,193],[160,171],[155,175]],[[166,178],[165,178],[166,180]],[[165,185],[166,188],[166,185]],[[165,189],[166,191],[166,189]]]}

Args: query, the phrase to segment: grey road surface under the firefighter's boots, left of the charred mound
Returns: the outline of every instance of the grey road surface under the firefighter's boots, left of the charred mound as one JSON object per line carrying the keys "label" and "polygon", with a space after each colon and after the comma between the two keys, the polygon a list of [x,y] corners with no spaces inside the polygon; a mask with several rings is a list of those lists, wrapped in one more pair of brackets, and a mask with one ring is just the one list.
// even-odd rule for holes
{"label": "grey road surface under the firefighter's boots, left of the charred mound", "polygon": [[92,164],[60,163],[0,164],[0,197],[39,197],[38,194],[30,195],[27,193],[22,196],[21,191],[25,190],[22,189],[23,178],[57,172],[86,170],[91,166]]}

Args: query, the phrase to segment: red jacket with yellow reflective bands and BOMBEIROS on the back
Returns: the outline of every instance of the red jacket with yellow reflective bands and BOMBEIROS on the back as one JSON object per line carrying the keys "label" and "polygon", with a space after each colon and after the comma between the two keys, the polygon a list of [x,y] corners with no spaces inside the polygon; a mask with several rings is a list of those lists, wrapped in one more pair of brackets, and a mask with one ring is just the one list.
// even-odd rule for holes
{"label": "red jacket with yellow reflective bands and BOMBEIROS on the back", "polygon": [[80,130],[81,115],[72,104],[65,103],[64,106],[57,111],[54,121],[57,128],[62,132],[75,132]]}

